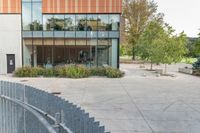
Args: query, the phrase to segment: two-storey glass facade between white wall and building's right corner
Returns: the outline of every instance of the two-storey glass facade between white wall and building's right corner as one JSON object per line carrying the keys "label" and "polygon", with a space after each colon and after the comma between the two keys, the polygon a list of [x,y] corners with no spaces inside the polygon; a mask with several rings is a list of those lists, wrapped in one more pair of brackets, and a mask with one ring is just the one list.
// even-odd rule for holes
{"label": "two-storey glass facade between white wall and building's right corner", "polygon": [[118,67],[119,14],[42,14],[41,0],[23,0],[24,65]]}

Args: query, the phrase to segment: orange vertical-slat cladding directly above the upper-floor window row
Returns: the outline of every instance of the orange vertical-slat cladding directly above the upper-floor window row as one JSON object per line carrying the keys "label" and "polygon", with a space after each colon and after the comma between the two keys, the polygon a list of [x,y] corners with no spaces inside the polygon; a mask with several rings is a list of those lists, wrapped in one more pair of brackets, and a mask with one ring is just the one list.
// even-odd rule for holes
{"label": "orange vertical-slat cladding directly above the upper-floor window row", "polygon": [[43,13],[121,13],[122,0],[43,0]]}

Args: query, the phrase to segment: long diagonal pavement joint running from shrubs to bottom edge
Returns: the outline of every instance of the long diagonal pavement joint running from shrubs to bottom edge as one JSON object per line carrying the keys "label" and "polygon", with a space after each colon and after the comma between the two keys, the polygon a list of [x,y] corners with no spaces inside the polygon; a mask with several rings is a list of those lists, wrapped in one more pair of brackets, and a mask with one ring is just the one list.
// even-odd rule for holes
{"label": "long diagonal pavement joint running from shrubs to bottom edge", "polygon": [[126,88],[123,86],[123,84],[121,83],[121,81],[119,81],[123,90],[126,92],[126,94],[128,95],[128,97],[131,100],[131,103],[136,107],[136,109],[138,110],[138,112],[140,113],[140,115],[142,116],[143,120],[145,121],[145,123],[147,124],[147,126],[150,128],[150,130],[152,131],[152,133],[155,133],[153,128],[151,127],[151,125],[148,123],[147,119],[145,118],[144,114],[142,113],[142,111],[139,109],[139,107],[137,106],[137,104],[135,103],[135,101],[133,100],[133,97],[128,93],[128,91],[126,90]]}

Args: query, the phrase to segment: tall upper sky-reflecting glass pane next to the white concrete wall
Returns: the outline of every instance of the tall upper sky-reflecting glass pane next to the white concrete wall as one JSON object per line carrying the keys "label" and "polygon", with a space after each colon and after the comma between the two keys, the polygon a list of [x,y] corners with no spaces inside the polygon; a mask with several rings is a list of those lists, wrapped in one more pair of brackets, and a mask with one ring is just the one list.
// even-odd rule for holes
{"label": "tall upper sky-reflecting glass pane next to the white concrete wall", "polygon": [[23,30],[31,30],[31,3],[22,4]]}

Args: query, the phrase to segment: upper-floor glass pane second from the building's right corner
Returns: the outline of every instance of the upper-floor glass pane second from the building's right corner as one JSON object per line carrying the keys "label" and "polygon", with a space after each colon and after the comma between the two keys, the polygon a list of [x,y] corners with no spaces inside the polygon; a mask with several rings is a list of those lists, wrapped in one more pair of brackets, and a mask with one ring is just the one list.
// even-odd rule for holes
{"label": "upper-floor glass pane second from the building's right corner", "polygon": [[98,16],[98,30],[108,31],[109,30],[109,17],[106,14]]}

